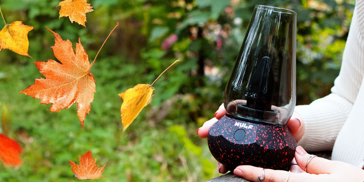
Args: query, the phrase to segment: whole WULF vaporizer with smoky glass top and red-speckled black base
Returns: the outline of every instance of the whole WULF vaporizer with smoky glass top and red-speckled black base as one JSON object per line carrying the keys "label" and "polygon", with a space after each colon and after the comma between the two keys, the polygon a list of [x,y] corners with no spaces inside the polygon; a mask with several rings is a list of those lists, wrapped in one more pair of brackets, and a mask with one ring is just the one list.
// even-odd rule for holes
{"label": "whole WULF vaporizer with smoky glass top and red-speckled black base", "polygon": [[296,104],[296,13],[256,5],[224,93],[227,114],[209,129],[211,154],[239,165],[286,169],[297,143],[286,123]]}

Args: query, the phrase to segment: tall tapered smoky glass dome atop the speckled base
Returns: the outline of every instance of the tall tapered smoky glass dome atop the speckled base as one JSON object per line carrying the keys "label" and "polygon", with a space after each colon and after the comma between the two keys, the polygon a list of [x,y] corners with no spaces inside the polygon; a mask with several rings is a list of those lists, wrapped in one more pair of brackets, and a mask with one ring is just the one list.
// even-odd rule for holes
{"label": "tall tapered smoky glass dome atop the speckled base", "polygon": [[286,124],[296,104],[296,13],[256,5],[226,85],[224,106],[237,119]]}

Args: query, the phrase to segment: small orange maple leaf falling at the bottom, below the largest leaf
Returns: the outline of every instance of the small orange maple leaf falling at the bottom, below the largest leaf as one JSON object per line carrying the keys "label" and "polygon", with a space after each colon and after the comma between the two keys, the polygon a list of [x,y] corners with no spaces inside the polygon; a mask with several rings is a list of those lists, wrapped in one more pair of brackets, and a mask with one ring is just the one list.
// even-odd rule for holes
{"label": "small orange maple leaf falling at the bottom, below the largest leaf", "polygon": [[74,177],[77,179],[98,179],[104,177],[102,172],[104,171],[104,167],[96,166],[96,159],[92,157],[91,150],[84,153],[82,157],[79,155],[80,165],[76,165],[75,162],[70,161],[70,165],[72,168],[72,173],[75,174]]}

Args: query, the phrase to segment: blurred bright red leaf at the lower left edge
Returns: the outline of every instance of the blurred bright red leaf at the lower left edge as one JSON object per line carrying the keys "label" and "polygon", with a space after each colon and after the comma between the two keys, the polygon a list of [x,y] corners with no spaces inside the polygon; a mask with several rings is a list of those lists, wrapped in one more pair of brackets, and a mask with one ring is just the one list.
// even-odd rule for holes
{"label": "blurred bright red leaf at the lower left edge", "polygon": [[21,147],[19,143],[0,133],[0,158],[3,160],[4,165],[20,166],[20,154]]}

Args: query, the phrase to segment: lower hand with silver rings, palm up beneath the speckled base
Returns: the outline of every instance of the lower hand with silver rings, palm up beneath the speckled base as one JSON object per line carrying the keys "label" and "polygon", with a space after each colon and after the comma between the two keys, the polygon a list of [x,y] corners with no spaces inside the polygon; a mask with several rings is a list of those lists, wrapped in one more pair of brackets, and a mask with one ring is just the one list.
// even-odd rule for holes
{"label": "lower hand with silver rings, palm up beneath the speckled base", "polygon": [[[328,159],[314,157],[307,165],[307,173],[304,172],[308,161],[309,154],[301,147],[296,148],[294,158],[302,173],[291,171],[289,174],[288,182],[362,182],[364,181],[364,170],[355,167],[345,162],[330,161]],[[295,165],[294,165],[295,166]],[[262,177],[261,167],[254,166],[238,166],[234,170],[234,174],[248,179],[250,181],[258,182],[258,176]],[[264,170],[264,180],[262,182],[282,182],[288,177],[287,171],[282,170]]]}

